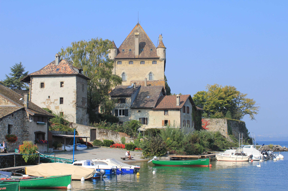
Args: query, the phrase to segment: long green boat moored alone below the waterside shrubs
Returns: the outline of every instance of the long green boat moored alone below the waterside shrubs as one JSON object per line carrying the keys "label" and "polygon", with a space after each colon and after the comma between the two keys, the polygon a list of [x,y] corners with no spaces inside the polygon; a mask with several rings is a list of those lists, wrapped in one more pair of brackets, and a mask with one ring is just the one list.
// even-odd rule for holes
{"label": "long green boat moored alone below the waterside shrubs", "polygon": [[152,163],[159,166],[209,166],[209,158],[198,160],[152,160]]}

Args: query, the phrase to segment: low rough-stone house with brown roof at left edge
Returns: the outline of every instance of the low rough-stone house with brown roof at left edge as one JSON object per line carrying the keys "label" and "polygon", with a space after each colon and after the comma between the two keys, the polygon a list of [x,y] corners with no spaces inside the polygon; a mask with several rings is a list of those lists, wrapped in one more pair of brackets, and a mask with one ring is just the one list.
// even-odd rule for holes
{"label": "low rough-stone house with brown roof at left edge", "polygon": [[23,140],[47,140],[48,118],[54,116],[8,87],[0,84],[0,140],[7,134],[18,137],[15,143],[7,142],[7,150],[18,149]]}

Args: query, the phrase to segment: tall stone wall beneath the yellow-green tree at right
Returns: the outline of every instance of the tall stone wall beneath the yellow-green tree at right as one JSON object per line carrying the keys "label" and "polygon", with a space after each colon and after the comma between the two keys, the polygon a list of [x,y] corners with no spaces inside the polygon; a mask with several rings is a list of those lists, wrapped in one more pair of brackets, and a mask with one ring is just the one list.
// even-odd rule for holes
{"label": "tall stone wall beneath the yellow-green tree at right", "polygon": [[217,132],[232,141],[229,135],[239,139],[239,133],[243,133],[243,139],[247,138],[247,128],[245,122],[229,119],[202,119],[202,125],[207,124],[207,131]]}

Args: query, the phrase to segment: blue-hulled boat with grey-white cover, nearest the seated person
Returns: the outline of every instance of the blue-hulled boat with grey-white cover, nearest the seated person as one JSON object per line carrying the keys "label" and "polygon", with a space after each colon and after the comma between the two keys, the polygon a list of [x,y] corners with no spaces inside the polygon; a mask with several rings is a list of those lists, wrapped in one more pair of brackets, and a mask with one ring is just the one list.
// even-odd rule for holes
{"label": "blue-hulled boat with grey-white cover, nearest the seated person", "polygon": [[140,170],[140,166],[137,165],[128,165],[123,162],[120,162],[114,158],[107,158],[107,159],[92,159],[92,162],[94,166],[99,165],[99,169],[102,165],[111,166],[116,170],[116,174],[132,174],[132,173],[138,173]]}

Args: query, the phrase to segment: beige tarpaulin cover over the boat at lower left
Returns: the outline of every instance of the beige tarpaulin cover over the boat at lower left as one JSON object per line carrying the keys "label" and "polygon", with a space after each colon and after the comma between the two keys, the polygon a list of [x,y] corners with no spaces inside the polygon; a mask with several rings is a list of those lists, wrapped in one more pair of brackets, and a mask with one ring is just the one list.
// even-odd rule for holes
{"label": "beige tarpaulin cover over the boat at lower left", "polygon": [[72,180],[91,178],[95,174],[95,169],[88,169],[81,166],[74,166],[64,163],[42,163],[35,166],[27,166],[26,174],[30,176],[58,176],[72,174]]}

